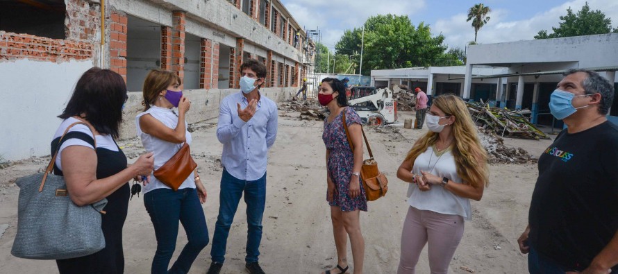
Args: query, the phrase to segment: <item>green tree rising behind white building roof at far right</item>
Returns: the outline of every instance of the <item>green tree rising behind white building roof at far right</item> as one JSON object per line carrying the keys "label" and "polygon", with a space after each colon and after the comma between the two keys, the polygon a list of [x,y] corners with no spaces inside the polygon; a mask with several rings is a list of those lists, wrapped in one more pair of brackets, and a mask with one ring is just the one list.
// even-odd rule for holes
{"label": "green tree rising behind white building roof at far right", "polygon": [[[590,10],[588,2],[577,12],[573,13],[571,7],[567,8],[567,15],[560,16],[560,26],[552,27],[553,33],[541,30],[535,39],[547,39],[558,37],[571,37],[580,35],[594,35],[612,32],[612,19],[606,18],[601,10]],[[618,33],[618,28],[614,28],[614,33]]]}

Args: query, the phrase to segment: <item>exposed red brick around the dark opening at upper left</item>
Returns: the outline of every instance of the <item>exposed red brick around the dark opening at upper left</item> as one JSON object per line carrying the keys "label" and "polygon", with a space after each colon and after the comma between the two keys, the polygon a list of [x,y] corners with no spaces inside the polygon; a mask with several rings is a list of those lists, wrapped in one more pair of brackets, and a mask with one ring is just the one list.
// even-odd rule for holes
{"label": "exposed red brick around the dark opening at upper left", "polygon": [[66,40],[0,31],[0,60],[30,59],[48,62],[91,59],[97,46],[99,5],[83,0],[67,2]]}

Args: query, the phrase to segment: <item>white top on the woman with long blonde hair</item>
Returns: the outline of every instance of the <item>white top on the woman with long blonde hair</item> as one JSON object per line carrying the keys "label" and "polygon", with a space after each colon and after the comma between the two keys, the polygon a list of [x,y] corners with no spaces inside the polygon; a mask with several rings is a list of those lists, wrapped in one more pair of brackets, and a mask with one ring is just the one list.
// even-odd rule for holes
{"label": "white top on the woman with long blonde hair", "polygon": [[[433,151],[433,146],[429,146],[424,153],[416,158],[412,167],[412,173],[420,175],[421,171],[429,171],[429,173],[440,178],[446,177],[451,179],[452,182],[462,183],[457,174],[455,157],[453,157],[450,148],[444,154],[438,156]],[[452,182],[449,182],[449,184]],[[430,190],[420,191],[416,184],[410,184],[408,187],[408,204],[420,210],[459,215],[465,220],[472,218],[470,200],[457,196],[444,187],[440,187],[440,185],[432,185]]]}

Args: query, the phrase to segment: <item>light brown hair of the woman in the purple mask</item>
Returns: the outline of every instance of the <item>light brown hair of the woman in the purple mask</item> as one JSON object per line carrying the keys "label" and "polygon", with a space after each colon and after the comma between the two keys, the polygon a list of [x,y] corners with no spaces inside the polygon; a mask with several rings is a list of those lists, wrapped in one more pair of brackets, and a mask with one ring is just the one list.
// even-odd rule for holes
{"label": "light brown hair of the woman in the purple mask", "polygon": [[144,86],[142,87],[142,95],[144,96],[144,101],[142,101],[142,105],[144,105],[144,111],[150,108],[150,105],[153,105],[159,96],[159,92],[163,89],[167,89],[169,85],[174,83],[178,83],[178,85],[182,84],[181,78],[178,77],[174,71],[167,71],[163,69],[153,69],[151,70],[146,79],[144,79]]}

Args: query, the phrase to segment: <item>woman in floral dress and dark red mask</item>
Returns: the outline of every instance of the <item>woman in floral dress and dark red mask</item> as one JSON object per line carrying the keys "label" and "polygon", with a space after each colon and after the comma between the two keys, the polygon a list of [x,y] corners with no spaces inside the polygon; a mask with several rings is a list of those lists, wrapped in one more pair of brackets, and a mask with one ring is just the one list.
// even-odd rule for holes
{"label": "woman in floral dress and dark red mask", "polygon": [[[344,84],[335,78],[324,78],[319,88],[318,100],[331,114],[324,120],[322,139],[326,145],[326,200],[331,205],[331,221],[337,248],[337,266],[326,271],[346,273],[347,237],[350,237],[354,272],[362,273],[365,257],[365,239],[360,232],[360,211],[367,211],[365,189],[360,186],[360,167],[362,166],[362,132],[360,117],[347,106]],[[346,137],[346,125],[354,150]]]}

